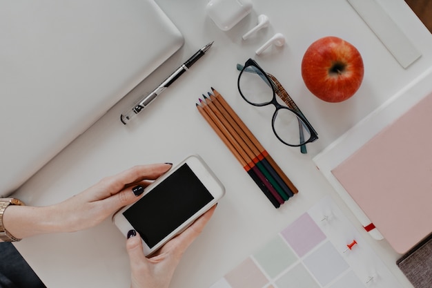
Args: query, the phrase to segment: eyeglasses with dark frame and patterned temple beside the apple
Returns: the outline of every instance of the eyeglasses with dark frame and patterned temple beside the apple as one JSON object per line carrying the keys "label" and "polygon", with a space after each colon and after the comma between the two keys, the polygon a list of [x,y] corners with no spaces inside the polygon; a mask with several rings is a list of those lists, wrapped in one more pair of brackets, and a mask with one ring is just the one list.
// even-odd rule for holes
{"label": "eyeglasses with dark frame and patterned temple beside the apple", "polygon": [[[237,69],[240,70],[237,86],[243,99],[253,106],[273,104],[276,110],[272,128],[277,139],[288,146],[301,146],[302,153],[306,153],[305,144],[317,140],[317,132],[282,84],[273,75],[264,72],[253,59],[248,59],[244,66],[237,64]],[[276,95],[287,106],[279,104]]]}

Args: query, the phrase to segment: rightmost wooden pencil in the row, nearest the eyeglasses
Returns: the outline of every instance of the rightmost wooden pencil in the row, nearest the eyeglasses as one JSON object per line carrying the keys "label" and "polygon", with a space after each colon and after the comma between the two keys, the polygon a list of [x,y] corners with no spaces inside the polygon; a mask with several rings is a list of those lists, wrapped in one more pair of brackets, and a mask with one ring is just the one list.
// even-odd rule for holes
{"label": "rightmost wooden pencil in the row, nearest the eyeglasses", "polygon": [[228,113],[230,113],[231,117],[233,117],[235,122],[237,122],[237,124],[240,126],[240,128],[242,128],[242,130],[248,136],[248,138],[253,142],[253,144],[255,144],[255,146],[258,148],[258,150],[262,154],[262,156],[265,157],[265,159],[268,161],[268,163],[271,166],[273,166],[275,171],[277,171],[277,174],[284,180],[284,182],[286,183],[286,185],[288,185],[288,187],[291,189],[291,191],[294,194],[298,193],[297,187],[295,187],[293,182],[291,182],[291,180],[285,175],[285,173],[282,171],[282,169],[280,169],[280,167],[277,165],[275,160],[273,160],[273,157],[271,157],[271,155],[268,154],[266,149],[264,149],[264,147],[259,143],[257,138],[248,129],[246,124],[244,124],[242,119],[240,119],[240,117],[235,113],[235,111],[233,111],[233,108],[231,108],[228,105],[228,103],[225,101],[224,97],[222,97],[222,95],[220,95],[220,93],[217,92],[217,90],[215,90],[213,87],[211,89],[215,95],[215,98],[222,104],[222,106],[224,106],[225,110],[228,111]]}

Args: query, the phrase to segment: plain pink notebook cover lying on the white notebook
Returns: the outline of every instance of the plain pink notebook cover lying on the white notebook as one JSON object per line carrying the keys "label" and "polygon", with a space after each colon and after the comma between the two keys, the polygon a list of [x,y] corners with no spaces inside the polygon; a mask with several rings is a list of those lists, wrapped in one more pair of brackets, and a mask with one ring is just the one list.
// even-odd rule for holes
{"label": "plain pink notebook cover lying on the white notebook", "polygon": [[432,93],[332,170],[398,253],[432,232]]}

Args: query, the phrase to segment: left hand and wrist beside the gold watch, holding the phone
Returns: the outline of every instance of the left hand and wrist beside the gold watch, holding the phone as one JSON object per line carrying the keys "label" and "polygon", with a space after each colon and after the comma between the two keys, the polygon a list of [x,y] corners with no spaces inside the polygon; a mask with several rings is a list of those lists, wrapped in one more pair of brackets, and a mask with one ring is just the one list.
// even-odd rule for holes
{"label": "left hand and wrist beside the gold watch, holding the phone", "polygon": [[10,206],[3,214],[3,225],[17,238],[88,229],[121,207],[137,201],[144,187],[171,166],[150,164],[132,167],[49,207]]}

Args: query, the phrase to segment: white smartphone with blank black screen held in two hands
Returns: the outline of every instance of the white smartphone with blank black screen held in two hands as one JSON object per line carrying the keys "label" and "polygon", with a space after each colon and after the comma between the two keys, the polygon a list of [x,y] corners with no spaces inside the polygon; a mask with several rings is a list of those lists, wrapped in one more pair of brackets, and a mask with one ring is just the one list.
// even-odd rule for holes
{"label": "white smartphone with blank black screen held in two hands", "polygon": [[135,229],[144,254],[150,256],[224,194],[224,186],[206,163],[192,155],[147,186],[141,199],[120,209],[112,221],[125,236]]}

